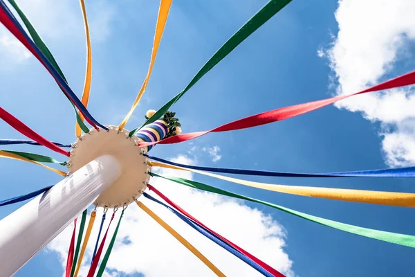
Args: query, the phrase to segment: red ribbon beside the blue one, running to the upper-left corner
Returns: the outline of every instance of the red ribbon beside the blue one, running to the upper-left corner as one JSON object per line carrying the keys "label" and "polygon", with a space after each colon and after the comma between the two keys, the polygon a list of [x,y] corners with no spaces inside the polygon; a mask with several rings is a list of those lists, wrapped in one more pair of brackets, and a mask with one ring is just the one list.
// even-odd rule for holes
{"label": "red ribbon beside the blue one, running to the upper-left corner", "polygon": [[[50,75],[52,75],[52,73],[49,71],[49,69],[46,67],[46,65],[44,64],[44,62],[42,61],[42,59],[39,57],[39,55],[37,55],[35,49],[30,45],[30,43],[27,41],[27,39],[24,37],[24,35],[20,32],[19,28],[17,28],[17,26],[15,26],[15,24],[13,24],[13,22],[10,20],[10,18],[8,17],[8,15],[6,14],[6,12],[0,8],[0,22],[10,31],[10,33],[12,33],[12,35],[15,35],[15,37],[17,39],[19,39],[19,41],[26,46],[26,48],[28,49],[28,51],[30,51],[30,53],[32,53],[37,60],[39,60],[39,62],[41,62],[41,64],[43,64],[43,66],[46,68],[46,70],[50,73]],[[71,100],[71,102],[73,102],[73,104],[80,109],[80,107],[77,106],[77,103],[75,101],[73,101],[73,98],[71,98],[71,96],[68,94],[68,92],[66,91],[66,89],[64,87],[61,86],[61,84],[59,84],[58,80],[55,78],[55,76],[52,75],[52,77],[55,79],[55,81],[57,82],[57,84],[59,85],[59,87],[62,89],[62,91],[64,91],[64,93],[66,94],[66,96],[68,96],[68,98]],[[82,113],[82,111],[80,110],[80,112]],[[83,114],[83,113],[82,113]],[[84,114],[83,114],[84,115]],[[89,118],[88,116],[84,115],[84,118],[86,121],[88,121],[89,124],[91,124],[91,126],[93,126],[95,129],[98,129],[97,125],[95,125]]]}

